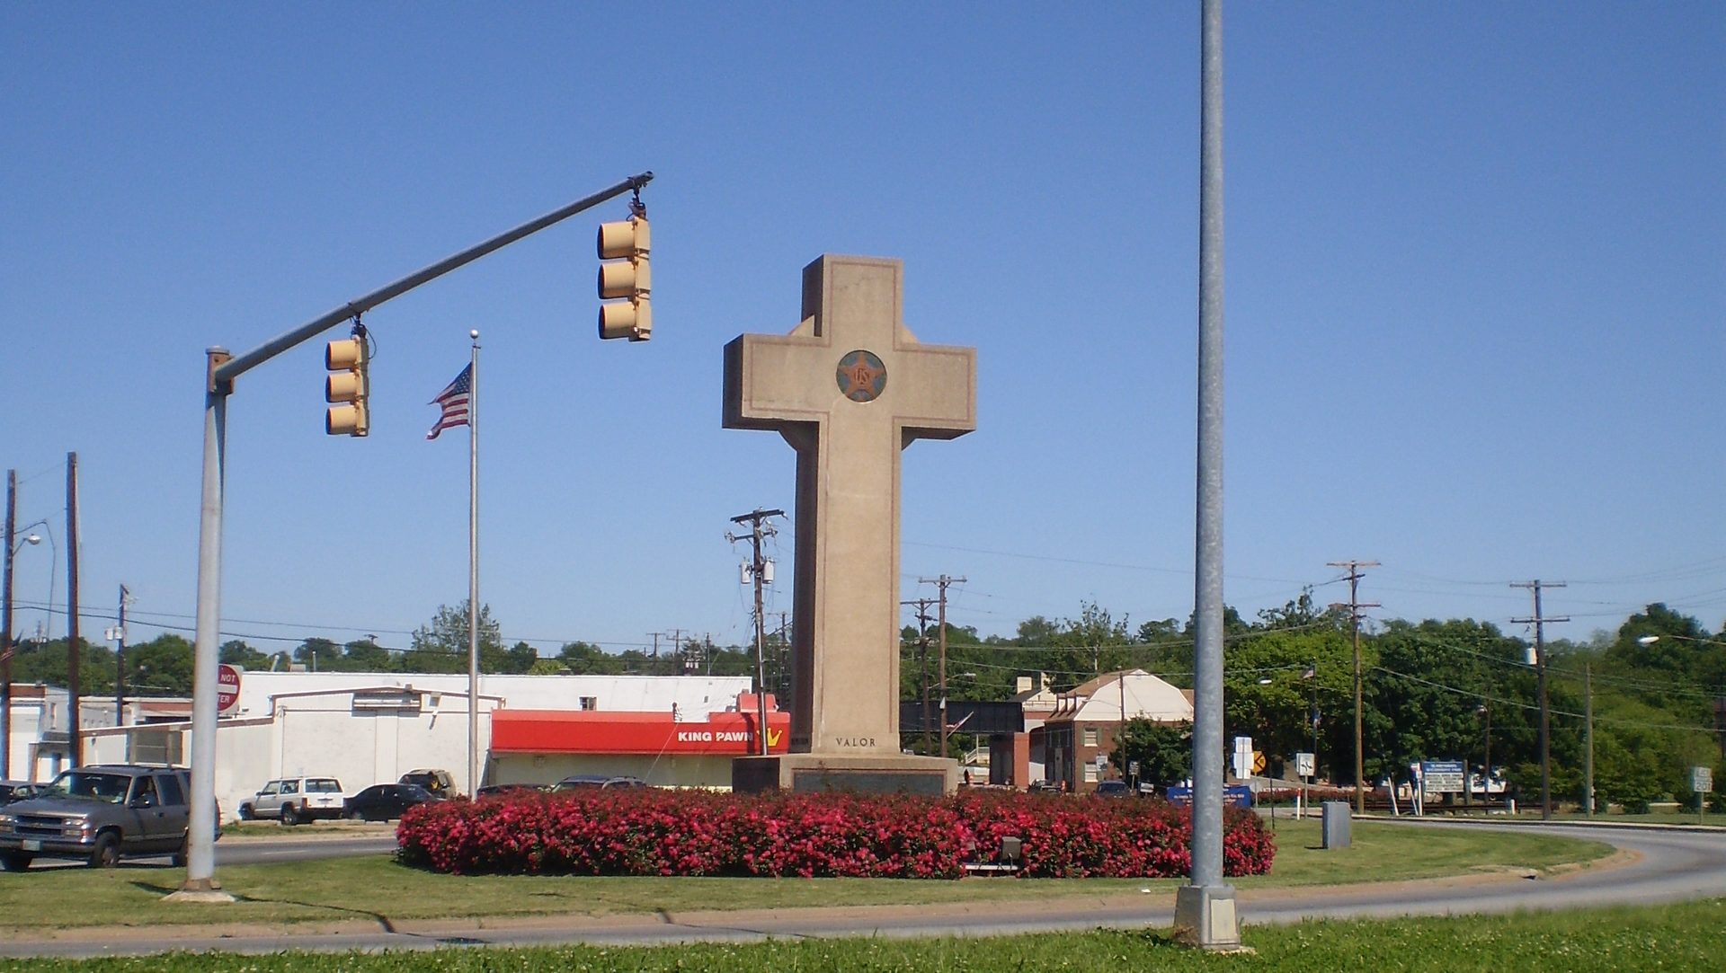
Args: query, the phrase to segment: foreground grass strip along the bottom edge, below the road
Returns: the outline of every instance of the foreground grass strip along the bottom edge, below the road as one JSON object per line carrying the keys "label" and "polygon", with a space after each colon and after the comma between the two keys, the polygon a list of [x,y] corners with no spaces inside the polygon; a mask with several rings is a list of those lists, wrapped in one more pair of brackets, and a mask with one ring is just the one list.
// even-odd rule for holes
{"label": "foreground grass strip along the bottom edge, below the road", "polygon": [[1276,973],[1717,973],[1726,970],[1726,901],[1515,916],[1395,921],[1307,921],[1246,928],[1250,956],[1175,945],[1167,932],[1096,930],[986,938],[830,938],[747,945],[464,949],[435,952],[273,956],[169,954],[86,961],[0,959],[0,971],[202,973],[247,970],[304,973],[520,971],[723,971],[875,973],[899,970],[1006,973],[1169,973],[1229,970]]}

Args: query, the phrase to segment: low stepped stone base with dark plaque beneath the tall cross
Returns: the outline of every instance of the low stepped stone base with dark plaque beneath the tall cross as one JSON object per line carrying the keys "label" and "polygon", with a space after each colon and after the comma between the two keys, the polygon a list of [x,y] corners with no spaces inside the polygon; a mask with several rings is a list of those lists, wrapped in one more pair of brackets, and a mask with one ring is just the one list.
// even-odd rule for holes
{"label": "low stepped stone base with dark plaque beneath the tall cross", "polygon": [[775,754],[732,761],[732,790],[761,794],[929,794],[941,797],[960,787],[960,764],[946,757],[910,754]]}

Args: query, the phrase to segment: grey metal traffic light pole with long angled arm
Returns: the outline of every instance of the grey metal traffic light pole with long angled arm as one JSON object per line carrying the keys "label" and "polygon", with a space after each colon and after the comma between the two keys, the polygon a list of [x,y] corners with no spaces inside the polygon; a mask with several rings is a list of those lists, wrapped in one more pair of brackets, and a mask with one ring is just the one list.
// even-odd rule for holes
{"label": "grey metal traffic light pole with long angled arm", "polygon": [[198,518],[197,638],[192,654],[192,833],[186,837],[186,880],[180,887],[180,892],[174,892],[169,899],[231,901],[231,895],[221,892],[221,883],[216,882],[216,640],[221,616],[221,526],[223,490],[226,488],[228,395],[233,393],[233,380],[300,342],[371,311],[392,297],[400,297],[423,283],[471,264],[492,250],[507,247],[585,209],[592,209],[630,190],[639,191],[651,179],[652,173],[630,176],[614,186],[575,200],[563,209],[499,233],[483,243],[444,257],[430,267],[350,300],[321,317],[314,317],[285,335],[264,342],[243,355],[233,357],[221,347],[205,352],[209,362],[204,388],[204,499]]}

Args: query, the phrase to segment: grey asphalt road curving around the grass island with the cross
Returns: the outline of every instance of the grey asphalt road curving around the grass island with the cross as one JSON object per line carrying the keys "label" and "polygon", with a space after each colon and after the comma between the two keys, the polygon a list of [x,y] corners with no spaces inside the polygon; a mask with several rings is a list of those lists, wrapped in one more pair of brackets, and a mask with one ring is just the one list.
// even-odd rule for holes
{"label": "grey asphalt road curving around the grass island with the cross", "polygon": [[[1405,821],[1412,828],[1491,826],[1438,821]],[[1643,830],[1622,826],[1517,825],[1579,838],[1612,844],[1635,854],[1635,861],[1617,868],[1579,869],[1559,878],[1491,878],[1471,882],[1403,882],[1336,888],[1255,888],[1239,894],[1241,921],[1294,923],[1305,918],[1353,916],[1433,916],[1505,913],[1514,909],[1569,909],[1607,904],[1648,904],[1685,899],[1726,897],[1726,832],[1721,830]],[[376,842],[378,838],[319,838],[293,842],[318,849],[287,849],[278,842],[255,842],[243,854],[261,859],[285,854],[335,854],[335,842]],[[235,845],[228,854],[240,854]],[[349,849],[354,854],[354,849]],[[242,859],[230,859],[242,861]],[[658,916],[570,918],[542,916],[501,921],[501,928],[480,928],[475,920],[445,920],[409,925],[378,921],[362,932],[319,932],[283,935],[280,932],[245,933],[233,928],[224,935],[188,937],[185,926],[173,938],[150,937],[138,930],[91,930],[62,940],[0,944],[0,956],[126,956],[167,949],[221,952],[276,952],[304,949],[319,952],[437,949],[450,945],[554,945],[554,944],[671,944],[671,942],[751,942],[763,938],[830,938],[853,935],[935,937],[935,935],[1005,935],[1053,930],[1087,930],[1096,926],[1143,928],[1174,923],[1174,895],[1151,894],[1143,899],[1103,902],[982,902],[949,907],[880,907],[880,909],[778,909],[751,913],[701,913]]]}

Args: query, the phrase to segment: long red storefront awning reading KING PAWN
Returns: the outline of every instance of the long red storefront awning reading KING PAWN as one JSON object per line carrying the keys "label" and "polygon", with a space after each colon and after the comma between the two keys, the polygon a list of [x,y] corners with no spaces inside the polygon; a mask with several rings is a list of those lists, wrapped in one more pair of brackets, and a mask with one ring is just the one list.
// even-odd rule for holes
{"label": "long red storefront awning reading KING PAWN", "polygon": [[[494,709],[494,754],[758,754],[754,712],[711,712],[701,723],[670,712]],[[768,752],[787,752],[791,714],[768,711]]]}

